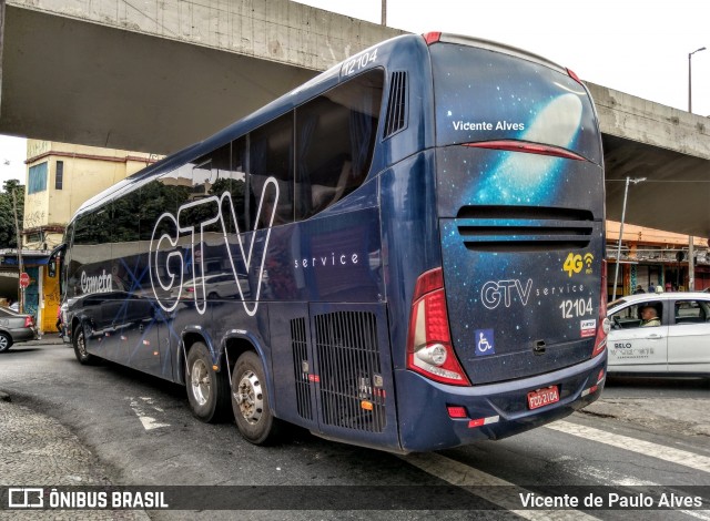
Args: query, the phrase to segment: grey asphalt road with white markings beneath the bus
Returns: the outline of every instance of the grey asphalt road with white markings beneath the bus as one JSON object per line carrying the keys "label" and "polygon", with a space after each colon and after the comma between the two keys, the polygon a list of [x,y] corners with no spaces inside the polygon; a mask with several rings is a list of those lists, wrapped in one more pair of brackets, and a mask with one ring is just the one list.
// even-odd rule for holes
{"label": "grey asphalt road with white markings beneath the bus", "polygon": [[[692,490],[707,496],[710,390],[702,380],[612,379],[599,401],[549,427],[410,456],[331,442],[295,428],[280,446],[253,447],[233,423],[194,419],[184,388],[112,364],[80,366],[72,349],[59,344],[18,345],[0,355],[0,391],[12,397],[12,407],[42,415],[71,432],[105,483],[222,486],[226,493],[253,492],[248,499],[263,503],[263,510],[144,512],[156,520],[469,519],[469,512],[450,507],[452,501],[465,504],[473,496],[468,492],[488,504],[478,517],[489,519],[710,520],[710,511],[692,508],[529,510],[521,503],[529,492],[561,497],[565,487],[572,486],[589,487],[585,490],[592,494],[622,491],[632,497],[692,486],[704,487]],[[7,461],[0,458],[0,484],[23,484],[12,482],[13,468]],[[341,491],[343,501],[310,501],[303,486]],[[390,491],[392,501],[374,493],[378,490]],[[452,494],[450,501],[437,491]],[[397,496],[417,510],[402,508]],[[293,497],[302,507],[284,509]],[[448,507],[423,508],[429,500],[433,509]],[[358,503],[353,508],[354,501]],[[392,504],[396,510],[388,510]],[[112,519],[83,513],[85,519]]]}

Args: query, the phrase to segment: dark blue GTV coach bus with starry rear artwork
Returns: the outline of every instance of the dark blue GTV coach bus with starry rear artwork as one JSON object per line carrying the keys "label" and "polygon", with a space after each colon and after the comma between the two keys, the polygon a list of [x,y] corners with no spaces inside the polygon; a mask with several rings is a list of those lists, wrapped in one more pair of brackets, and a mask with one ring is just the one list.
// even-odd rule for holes
{"label": "dark blue GTV coach bus with starry rear artwork", "polygon": [[395,38],[83,204],[68,338],[256,445],[521,432],[604,386],[602,165],[569,70]]}

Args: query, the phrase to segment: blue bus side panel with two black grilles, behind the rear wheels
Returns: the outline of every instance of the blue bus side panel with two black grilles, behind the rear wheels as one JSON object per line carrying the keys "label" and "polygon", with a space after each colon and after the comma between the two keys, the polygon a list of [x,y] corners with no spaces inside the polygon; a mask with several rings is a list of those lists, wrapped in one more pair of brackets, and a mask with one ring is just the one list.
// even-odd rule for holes
{"label": "blue bus side panel with two black grilles, behind the rear wheels", "polygon": [[304,307],[270,307],[278,417],[327,438],[397,449],[385,306],[311,304],[308,317]]}

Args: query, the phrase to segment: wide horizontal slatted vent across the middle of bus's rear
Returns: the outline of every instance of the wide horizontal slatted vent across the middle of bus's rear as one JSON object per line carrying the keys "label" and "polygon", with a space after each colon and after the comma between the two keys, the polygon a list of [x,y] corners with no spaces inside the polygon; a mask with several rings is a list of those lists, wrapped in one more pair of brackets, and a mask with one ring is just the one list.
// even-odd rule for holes
{"label": "wide horizontal slatted vent across the middle of bus's rear", "polygon": [[490,253],[586,248],[594,232],[591,212],[539,206],[464,206],[456,225],[467,249]]}

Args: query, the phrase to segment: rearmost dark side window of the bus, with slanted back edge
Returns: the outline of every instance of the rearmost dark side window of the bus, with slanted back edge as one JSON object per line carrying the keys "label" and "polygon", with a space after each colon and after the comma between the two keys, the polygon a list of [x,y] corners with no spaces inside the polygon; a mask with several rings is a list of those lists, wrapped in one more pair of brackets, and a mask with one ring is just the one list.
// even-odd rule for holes
{"label": "rearmost dark side window of the bus, with slanted back edge", "polygon": [[359,186],[372,161],[383,71],[329,90],[296,110],[296,217],[325,210]]}

